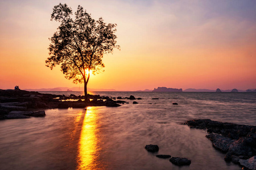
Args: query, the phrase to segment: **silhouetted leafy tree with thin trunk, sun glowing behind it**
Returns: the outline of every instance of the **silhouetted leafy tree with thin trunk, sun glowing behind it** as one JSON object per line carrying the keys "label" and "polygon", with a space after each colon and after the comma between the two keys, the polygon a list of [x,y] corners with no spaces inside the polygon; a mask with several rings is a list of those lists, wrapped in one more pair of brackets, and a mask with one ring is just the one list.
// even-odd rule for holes
{"label": "silhouetted leafy tree with thin trunk, sun glowing behind it", "polygon": [[81,6],[75,12],[75,19],[71,18],[72,9],[67,4],[59,4],[53,8],[51,20],[60,22],[57,32],[49,39],[49,56],[46,66],[51,70],[61,65],[65,78],[73,79],[73,83],[84,83],[85,101],[87,84],[92,74],[98,74],[104,67],[102,57],[106,53],[118,48],[116,44],[117,24],[106,24],[102,18],[92,19]]}

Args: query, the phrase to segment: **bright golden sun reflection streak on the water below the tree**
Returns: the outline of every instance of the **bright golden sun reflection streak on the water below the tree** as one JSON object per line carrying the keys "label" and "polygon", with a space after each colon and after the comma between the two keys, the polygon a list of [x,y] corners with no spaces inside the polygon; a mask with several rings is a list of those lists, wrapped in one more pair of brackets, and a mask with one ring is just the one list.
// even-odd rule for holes
{"label": "bright golden sun reflection streak on the water below the tree", "polygon": [[97,159],[100,147],[98,146],[97,127],[97,115],[94,107],[87,107],[79,140],[77,169],[98,168]]}

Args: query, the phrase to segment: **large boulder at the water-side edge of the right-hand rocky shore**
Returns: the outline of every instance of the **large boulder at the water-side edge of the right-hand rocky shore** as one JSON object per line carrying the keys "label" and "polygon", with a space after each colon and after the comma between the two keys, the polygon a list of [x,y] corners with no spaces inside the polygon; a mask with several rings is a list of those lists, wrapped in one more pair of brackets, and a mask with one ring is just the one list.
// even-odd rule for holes
{"label": "large boulder at the water-side edge of the right-hand rocky shore", "polygon": [[229,146],[234,142],[234,140],[230,138],[225,138],[222,135],[219,134],[209,134],[206,135],[210,141],[212,141],[212,145],[214,148],[222,151],[222,152],[228,152]]}

